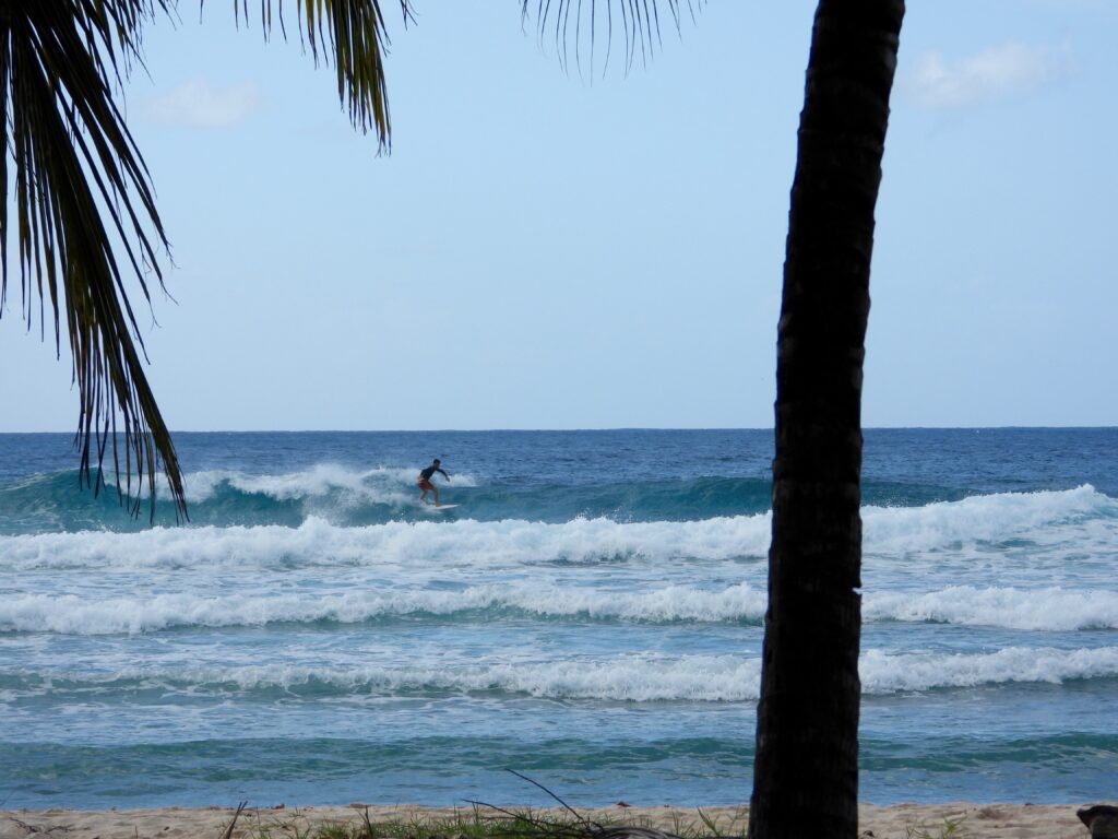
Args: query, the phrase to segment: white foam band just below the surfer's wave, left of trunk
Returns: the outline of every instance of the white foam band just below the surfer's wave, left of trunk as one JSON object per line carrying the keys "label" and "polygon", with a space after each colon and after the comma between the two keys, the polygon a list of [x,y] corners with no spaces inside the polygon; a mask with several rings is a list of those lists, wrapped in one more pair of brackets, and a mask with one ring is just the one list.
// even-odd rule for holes
{"label": "white foam band just below the surfer's wave, left of trunk", "polygon": [[648,557],[761,557],[764,517],[618,524],[576,519],[560,525],[506,521],[394,521],[335,527],[311,517],[297,528],[153,528],[134,534],[78,532],[0,537],[0,571],[32,568],[262,568],[277,564],[383,566],[416,560],[454,565],[597,562]]}

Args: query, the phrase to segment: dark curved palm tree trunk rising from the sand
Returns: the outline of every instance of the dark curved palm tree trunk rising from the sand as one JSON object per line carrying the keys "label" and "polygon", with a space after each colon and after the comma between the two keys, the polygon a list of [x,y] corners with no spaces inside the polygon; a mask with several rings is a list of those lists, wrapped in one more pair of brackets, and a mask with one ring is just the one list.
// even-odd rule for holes
{"label": "dark curved palm tree trunk rising from the sand", "polygon": [[777,343],[750,839],[858,833],[862,361],[903,0],[821,0]]}

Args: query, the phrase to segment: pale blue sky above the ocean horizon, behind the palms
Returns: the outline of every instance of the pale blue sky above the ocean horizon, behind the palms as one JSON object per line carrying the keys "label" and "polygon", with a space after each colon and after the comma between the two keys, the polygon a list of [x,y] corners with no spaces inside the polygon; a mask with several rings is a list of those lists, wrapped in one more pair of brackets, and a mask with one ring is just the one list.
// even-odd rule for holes
{"label": "pale blue sky above the ocean horizon, behind the palms", "polygon": [[[380,155],[294,18],[146,29],[123,102],[173,265],[132,293],[172,431],[771,427],[814,3],[676,32],[662,0],[628,73],[616,40],[565,69],[519,0],[414,6],[383,0]],[[908,3],[865,426],[1118,425],[1116,30],[1111,0]],[[0,432],[72,431],[20,302]]]}

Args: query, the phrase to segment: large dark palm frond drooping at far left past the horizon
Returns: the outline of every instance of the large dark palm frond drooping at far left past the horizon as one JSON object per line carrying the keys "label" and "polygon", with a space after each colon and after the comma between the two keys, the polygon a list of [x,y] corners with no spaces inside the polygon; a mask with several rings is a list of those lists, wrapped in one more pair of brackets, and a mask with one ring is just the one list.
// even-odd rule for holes
{"label": "large dark palm frond drooping at far left past the horizon", "polygon": [[167,12],[168,3],[7,0],[0,13],[0,116],[7,129],[0,155],[0,314],[7,301],[13,161],[23,317],[30,328],[37,298],[45,331],[49,299],[56,348],[66,322],[80,403],[75,437],[80,481],[100,490],[112,453],[122,501],[138,512],[146,483],[152,518],[160,461],[177,513],[186,515],[186,503],[171,435],[144,376],[143,339],[124,280],[133,276],[150,302],[149,279],[162,289],[157,257],[169,246],[146,166],[112,85],[139,60],[143,22]]}

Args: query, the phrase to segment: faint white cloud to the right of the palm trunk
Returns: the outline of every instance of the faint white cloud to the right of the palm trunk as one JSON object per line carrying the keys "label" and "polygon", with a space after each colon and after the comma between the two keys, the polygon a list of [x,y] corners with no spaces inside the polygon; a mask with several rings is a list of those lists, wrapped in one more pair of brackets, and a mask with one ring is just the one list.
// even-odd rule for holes
{"label": "faint white cloud to the right of the palm trunk", "polygon": [[1021,95],[1065,78],[1068,47],[1004,44],[969,58],[950,62],[925,53],[906,83],[907,92],[926,107],[945,110]]}

